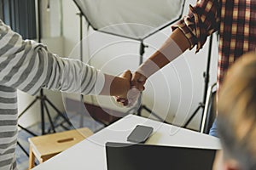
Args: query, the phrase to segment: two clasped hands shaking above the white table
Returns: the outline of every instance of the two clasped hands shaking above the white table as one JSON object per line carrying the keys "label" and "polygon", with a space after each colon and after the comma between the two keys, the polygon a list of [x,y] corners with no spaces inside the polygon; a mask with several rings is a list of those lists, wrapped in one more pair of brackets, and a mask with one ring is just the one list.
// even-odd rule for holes
{"label": "two clasped hands shaking above the white table", "polygon": [[[115,96],[115,100],[126,107],[131,107],[136,104],[141,92],[145,89],[144,84],[147,80],[142,73],[135,71],[125,71],[120,77],[119,87],[120,95]],[[125,84],[125,85],[124,85]]]}

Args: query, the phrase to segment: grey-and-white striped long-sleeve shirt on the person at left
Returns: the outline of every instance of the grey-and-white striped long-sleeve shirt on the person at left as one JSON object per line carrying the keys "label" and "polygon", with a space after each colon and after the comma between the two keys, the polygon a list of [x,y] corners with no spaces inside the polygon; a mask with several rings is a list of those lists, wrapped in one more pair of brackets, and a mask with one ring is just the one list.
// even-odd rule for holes
{"label": "grey-and-white striped long-sleeve shirt on the person at left", "polygon": [[37,94],[40,88],[99,94],[103,84],[100,71],[23,40],[0,20],[0,169],[16,169],[17,89],[28,94]]}

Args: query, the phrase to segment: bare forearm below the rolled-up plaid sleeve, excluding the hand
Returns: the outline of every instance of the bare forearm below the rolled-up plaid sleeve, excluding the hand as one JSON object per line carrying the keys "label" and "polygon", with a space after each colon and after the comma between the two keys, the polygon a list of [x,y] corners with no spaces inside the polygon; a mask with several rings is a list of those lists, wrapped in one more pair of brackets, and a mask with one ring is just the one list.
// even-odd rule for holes
{"label": "bare forearm below the rolled-up plaid sleeve, excluding the hand", "polygon": [[150,77],[154,72],[176,59],[179,55],[190,47],[190,42],[183,34],[183,31],[176,29],[166,40],[163,46],[148,58],[138,70],[145,77]]}

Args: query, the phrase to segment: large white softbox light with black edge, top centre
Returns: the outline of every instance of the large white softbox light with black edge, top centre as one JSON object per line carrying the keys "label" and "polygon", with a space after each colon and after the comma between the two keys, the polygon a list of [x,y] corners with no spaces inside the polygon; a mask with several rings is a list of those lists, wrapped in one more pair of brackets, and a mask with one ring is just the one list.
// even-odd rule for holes
{"label": "large white softbox light with black edge, top centre", "polygon": [[184,0],[74,0],[90,26],[143,40],[180,19]]}

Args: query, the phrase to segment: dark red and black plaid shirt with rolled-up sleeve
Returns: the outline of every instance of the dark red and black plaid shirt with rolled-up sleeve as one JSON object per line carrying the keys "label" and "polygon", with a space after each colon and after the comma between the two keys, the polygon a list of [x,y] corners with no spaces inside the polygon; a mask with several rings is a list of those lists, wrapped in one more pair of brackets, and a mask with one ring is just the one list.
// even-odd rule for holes
{"label": "dark red and black plaid shirt with rolled-up sleeve", "polygon": [[218,88],[224,74],[241,54],[256,47],[256,1],[198,0],[172,29],[180,28],[191,48],[199,51],[212,32],[219,32]]}

